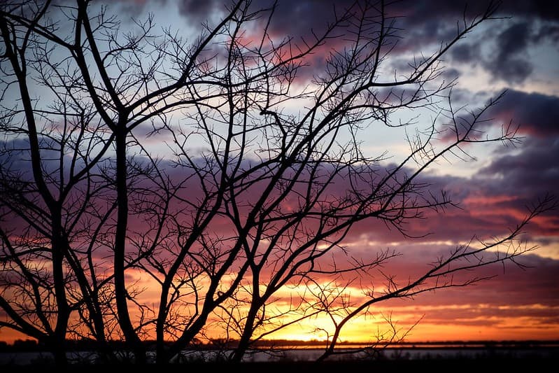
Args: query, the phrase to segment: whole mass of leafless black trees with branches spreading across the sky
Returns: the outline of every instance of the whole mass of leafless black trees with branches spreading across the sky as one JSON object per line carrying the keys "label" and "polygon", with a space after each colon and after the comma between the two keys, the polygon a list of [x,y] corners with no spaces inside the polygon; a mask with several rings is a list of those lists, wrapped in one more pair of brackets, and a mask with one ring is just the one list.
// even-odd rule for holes
{"label": "whole mass of leafless black trees with branches spreading across the sky", "polygon": [[[59,363],[69,337],[96,339],[107,357],[108,341],[124,339],[139,363],[155,338],[166,363],[215,330],[236,341],[229,358],[240,361],[255,341],[326,314],[323,359],[373,304],[467,286],[483,278],[453,274],[530,251],[519,234],[551,197],[504,238],[460,246],[406,283],[382,269],[399,253],[365,260],[344,246],[360,223],[406,235],[409,220],[452,206],[422,181],[434,162],[467,155],[472,143],[518,141],[514,127],[483,134],[496,101],[455,112],[455,82],[441,76],[441,58],[496,8],[464,18],[450,41],[391,78],[383,66],[400,30],[383,1],[334,10],[302,40],[274,38],[276,4],[234,1],[190,43],[153,17],[122,34],[106,8],[90,14],[89,1],[3,3],[1,326],[54,341]],[[305,81],[326,47],[324,71]],[[362,151],[364,127],[416,128],[393,115],[425,109],[444,124],[410,135],[400,162]],[[153,155],[146,134],[165,139],[169,155]],[[372,273],[385,290],[364,286],[364,301],[349,300],[351,281]],[[149,278],[157,301],[127,274]],[[285,291],[291,302],[278,307]]]}

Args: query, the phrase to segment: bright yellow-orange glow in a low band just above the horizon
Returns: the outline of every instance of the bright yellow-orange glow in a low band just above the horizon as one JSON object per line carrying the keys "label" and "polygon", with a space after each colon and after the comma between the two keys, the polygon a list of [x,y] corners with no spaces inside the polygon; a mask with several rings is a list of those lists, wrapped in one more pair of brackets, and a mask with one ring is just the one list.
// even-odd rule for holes
{"label": "bright yellow-orange glow in a low band just above the horizon", "polygon": [[[480,304],[479,310],[486,305]],[[480,316],[476,318],[457,318],[455,322],[448,321],[445,323],[432,321],[431,318],[435,317],[443,308],[446,312],[451,312],[452,309],[464,309],[464,305],[453,305],[450,307],[402,307],[399,309],[401,313],[392,314],[392,322],[397,335],[395,341],[404,337],[407,332],[404,342],[472,342],[472,341],[523,341],[523,340],[557,340],[559,339],[559,323],[552,320],[545,320],[537,317],[530,316]],[[515,307],[502,306],[500,309],[511,309]],[[533,304],[531,306],[519,307],[521,309],[545,309],[546,307],[541,304]],[[413,313],[407,313],[411,311]],[[423,311],[423,313],[422,313]],[[551,310],[553,311],[553,310]],[[423,319],[421,319],[423,316]],[[421,320],[420,320],[421,319]],[[418,323],[413,326],[413,323]],[[477,324],[477,325],[476,325]],[[410,330],[410,328],[413,328]],[[309,318],[301,323],[290,325],[289,327],[280,330],[267,340],[292,340],[301,342],[325,341],[329,335],[332,335],[332,321],[327,316],[319,316]],[[215,335],[211,335],[211,330],[208,337],[220,338],[223,337],[216,330]],[[379,338],[380,337],[380,338]],[[390,339],[394,337],[392,328],[382,317],[360,317],[346,325],[341,332],[339,342],[353,342],[353,343],[373,343],[381,339]],[[20,332],[3,328],[0,330],[0,342],[13,344],[16,340],[32,339]]]}

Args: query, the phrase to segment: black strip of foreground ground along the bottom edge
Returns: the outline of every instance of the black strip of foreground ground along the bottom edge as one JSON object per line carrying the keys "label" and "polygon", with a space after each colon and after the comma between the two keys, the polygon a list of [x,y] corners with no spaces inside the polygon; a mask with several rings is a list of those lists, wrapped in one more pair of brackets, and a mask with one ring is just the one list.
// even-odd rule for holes
{"label": "black strip of foreground ground along the bottom edge", "polygon": [[274,363],[186,363],[165,366],[139,365],[69,365],[61,368],[46,364],[0,366],[0,371],[8,372],[243,372],[243,373],[295,373],[295,372],[548,372],[558,367],[559,357],[551,358],[451,358],[429,360],[344,360],[323,363],[313,362],[274,362]]}

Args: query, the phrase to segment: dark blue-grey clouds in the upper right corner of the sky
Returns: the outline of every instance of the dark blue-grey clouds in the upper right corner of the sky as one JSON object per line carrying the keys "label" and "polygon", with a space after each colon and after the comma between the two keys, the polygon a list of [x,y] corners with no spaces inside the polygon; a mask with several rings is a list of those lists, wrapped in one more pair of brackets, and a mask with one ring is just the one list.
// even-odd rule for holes
{"label": "dark blue-grey clouds in the upper right corner of the sky", "polygon": [[[448,41],[456,33],[456,21],[480,15],[488,1],[403,1],[389,13],[401,15],[400,50],[420,52],[430,43]],[[510,20],[487,21],[483,32],[470,34],[465,41],[454,45],[450,57],[462,64],[481,63],[493,78],[507,83],[523,83],[534,71],[529,52],[532,46],[545,39],[559,38],[559,10],[556,3],[543,5],[539,1],[504,1],[497,9],[497,17]],[[494,23],[491,23],[494,22]],[[503,28],[504,27],[504,28]],[[480,48],[488,45],[488,50]]]}

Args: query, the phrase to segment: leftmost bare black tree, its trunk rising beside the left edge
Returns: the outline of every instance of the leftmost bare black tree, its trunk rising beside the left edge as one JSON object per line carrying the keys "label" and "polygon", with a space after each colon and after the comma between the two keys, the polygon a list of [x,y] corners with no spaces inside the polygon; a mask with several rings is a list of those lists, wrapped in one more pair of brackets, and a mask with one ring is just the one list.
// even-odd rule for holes
{"label": "leftmost bare black tree, its trunk rising beside the left edge", "polygon": [[[105,188],[95,171],[113,136],[94,106],[80,100],[76,66],[41,35],[47,7],[2,8],[1,304],[8,315],[3,326],[50,346],[62,362],[69,326],[78,322],[73,312],[106,341],[95,240],[87,247],[83,239],[104,224],[94,218]],[[52,100],[41,102],[37,86]]]}

